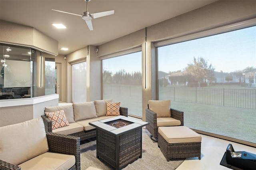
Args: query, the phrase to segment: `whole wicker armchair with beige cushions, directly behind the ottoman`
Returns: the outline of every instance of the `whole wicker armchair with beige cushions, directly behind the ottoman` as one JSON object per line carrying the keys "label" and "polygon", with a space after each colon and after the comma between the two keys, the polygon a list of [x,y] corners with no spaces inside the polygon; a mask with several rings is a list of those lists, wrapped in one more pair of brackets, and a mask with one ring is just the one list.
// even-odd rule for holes
{"label": "whole wicker armchair with beige cushions, directly behind the ottoman", "polygon": [[[151,102],[151,107],[150,107]],[[156,106],[156,107],[155,107]],[[170,116],[160,116],[159,113],[165,108],[170,113]],[[156,113],[158,112],[158,114]],[[167,119],[166,119],[167,118]],[[164,126],[183,126],[184,125],[184,112],[170,108],[170,101],[153,101],[150,100],[148,108],[146,109],[146,129],[150,132],[152,140],[158,140],[158,127]]]}

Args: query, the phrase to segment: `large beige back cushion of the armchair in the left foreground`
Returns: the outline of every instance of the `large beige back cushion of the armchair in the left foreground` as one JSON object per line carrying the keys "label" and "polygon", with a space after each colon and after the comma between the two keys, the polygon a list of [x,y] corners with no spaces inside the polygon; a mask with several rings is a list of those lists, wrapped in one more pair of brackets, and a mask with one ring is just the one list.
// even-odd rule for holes
{"label": "large beige back cushion of the armchair in the left foreground", "polygon": [[48,152],[43,119],[0,127],[0,160],[18,165]]}

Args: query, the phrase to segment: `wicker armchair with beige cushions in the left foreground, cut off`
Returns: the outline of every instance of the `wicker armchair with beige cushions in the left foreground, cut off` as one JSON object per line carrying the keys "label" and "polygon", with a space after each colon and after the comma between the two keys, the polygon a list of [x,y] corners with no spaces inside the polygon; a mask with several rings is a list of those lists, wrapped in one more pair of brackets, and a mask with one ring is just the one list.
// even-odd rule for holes
{"label": "wicker armchair with beige cushions in the left foreground, cut off", "polygon": [[45,132],[42,118],[0,127],[0,169],[80,170],[80,138]]}

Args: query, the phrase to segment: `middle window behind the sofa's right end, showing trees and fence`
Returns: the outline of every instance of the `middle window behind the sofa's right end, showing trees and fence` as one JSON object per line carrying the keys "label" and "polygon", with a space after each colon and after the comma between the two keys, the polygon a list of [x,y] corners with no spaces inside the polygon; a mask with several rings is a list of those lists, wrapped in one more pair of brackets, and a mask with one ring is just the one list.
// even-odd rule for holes
{"label": "middle window behind the sofa's right end, showing trees and fence", "polygon": [[102,60],[103,99],[128,107],[129,115],[142,117],[142,53]]}

